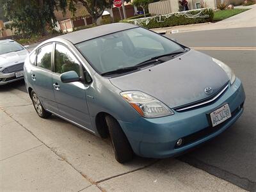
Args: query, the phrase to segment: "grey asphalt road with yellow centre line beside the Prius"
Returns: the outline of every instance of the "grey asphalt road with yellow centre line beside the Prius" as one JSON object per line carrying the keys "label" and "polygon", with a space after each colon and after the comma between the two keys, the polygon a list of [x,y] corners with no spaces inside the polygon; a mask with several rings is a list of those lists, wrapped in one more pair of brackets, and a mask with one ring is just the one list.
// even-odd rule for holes
{"label": "grey asphalt road with yellow centre line beside the Prius", "polygon": [[[256,47],[256,28],[218,29],[167,35],[188,47]],[[237,49],[238,49],[237,48]],[[249,191],[256,191],[256,51],[198,50],[227,63],[243,81],[244,113],[230,129],[179,157]],[[24,82],[10,85],[26,92]]]}

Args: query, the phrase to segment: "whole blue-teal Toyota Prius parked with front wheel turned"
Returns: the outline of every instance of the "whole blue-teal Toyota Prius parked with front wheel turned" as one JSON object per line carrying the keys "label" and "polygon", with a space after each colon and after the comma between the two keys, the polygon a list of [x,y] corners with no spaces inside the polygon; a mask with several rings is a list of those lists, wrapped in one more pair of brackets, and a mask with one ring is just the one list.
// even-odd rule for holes
{"label": "whole blue-teal Toyota Prius parked with front wheel turned", "polygon": [[109,24],[52,38],[26,58],[36,113],[110,136],[116,160],[181,154],[243,113],[241,81],[223,62],[148,29]]}

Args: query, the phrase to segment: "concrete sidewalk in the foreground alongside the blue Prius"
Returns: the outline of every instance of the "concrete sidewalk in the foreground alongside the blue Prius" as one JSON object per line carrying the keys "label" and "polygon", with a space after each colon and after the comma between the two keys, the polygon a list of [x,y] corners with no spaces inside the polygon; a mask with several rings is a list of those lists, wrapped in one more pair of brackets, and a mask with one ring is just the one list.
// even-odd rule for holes
{"label": "concrete sidewalk in the foreground alongside the blue Prius", "polygon": [[243,191],[173,158],[119,164],[109,140],[39,118],[11,88],[0,91],[0,133],[0,191]]}

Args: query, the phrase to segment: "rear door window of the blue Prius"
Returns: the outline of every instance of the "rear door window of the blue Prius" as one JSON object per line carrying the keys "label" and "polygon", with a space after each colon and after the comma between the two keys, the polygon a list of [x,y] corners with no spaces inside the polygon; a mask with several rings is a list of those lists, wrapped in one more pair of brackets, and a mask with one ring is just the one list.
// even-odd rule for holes
{"label": "rear door window of the blue Prius", "polygon": [[38,49],[36,65],[48,70],[51,70],[51,54],[52,54],[52,44],[45,45]]}

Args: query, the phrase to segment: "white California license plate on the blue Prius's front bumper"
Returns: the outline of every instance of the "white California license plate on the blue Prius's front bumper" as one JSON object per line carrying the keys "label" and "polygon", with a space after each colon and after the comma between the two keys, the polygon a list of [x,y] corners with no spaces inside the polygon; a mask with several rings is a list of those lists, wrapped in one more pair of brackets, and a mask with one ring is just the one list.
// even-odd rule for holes
{"label": "white California license plate on the blue Prius's front bumper", "polygon": [[225,120],[231,117],[231,112],[228,104],[225,104],[225,106],[216,109],[215,111],[210,113],[210,116],[212,121],[212,127],[221,124],[222,122],[225,122]]}

